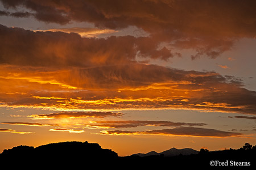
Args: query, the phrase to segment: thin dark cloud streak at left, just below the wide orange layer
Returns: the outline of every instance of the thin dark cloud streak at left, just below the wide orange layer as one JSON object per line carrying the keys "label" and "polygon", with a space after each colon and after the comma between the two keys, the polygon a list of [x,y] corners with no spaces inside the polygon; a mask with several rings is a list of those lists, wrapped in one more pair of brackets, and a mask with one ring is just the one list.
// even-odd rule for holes
{"label": "thin dark cloud streak at left, just below the wide orange layer", "polygon": [[48,119],[48,118],[82,118],[82,117],[108,117],[122,116],[123,113],[113,113],[113,112],[61,112],[61,113],[51,113],[51,114],[32,114],[28,117],[36,119]]}

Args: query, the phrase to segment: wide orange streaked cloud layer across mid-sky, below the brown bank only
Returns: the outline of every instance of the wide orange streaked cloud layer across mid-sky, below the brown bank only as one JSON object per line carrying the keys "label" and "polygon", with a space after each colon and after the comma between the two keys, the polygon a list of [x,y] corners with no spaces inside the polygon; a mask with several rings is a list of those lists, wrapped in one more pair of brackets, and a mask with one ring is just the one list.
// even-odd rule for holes
{"label": "wide orange streaked cloud layer across mid-sky, below the brown bank only", "polygon": [[[9,65],[1,67],[0,71],[1,107],[70,112],[196,109],[256,113],[254,91],[243,88],[241,80],[234,76],[214,72],[184,71],[139,63],[66,71]],[[23,79],[28,76],[44,81],[51,79],[51,82]]]}

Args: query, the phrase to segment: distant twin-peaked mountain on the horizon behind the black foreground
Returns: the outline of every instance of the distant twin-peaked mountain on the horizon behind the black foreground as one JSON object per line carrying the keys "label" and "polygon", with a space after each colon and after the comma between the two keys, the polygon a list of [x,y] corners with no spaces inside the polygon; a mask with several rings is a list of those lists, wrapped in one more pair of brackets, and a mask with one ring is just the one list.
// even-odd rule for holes
{"label": "distant twin-peaked mountain on the horizon behind the black foreground", "polygon": [[155,152],[151,151],[148,152],[147,154],[133,154],[133,156],[152,156],[152,155],[163,155],[163,156],[177,156],[177,155],[191,155],[191,154],[198,154],[199,151],[193,150],[192,148],[183,148],[183,149],[176,149],[176,148],[171,148],[170,150],[163,151],[163,152]]}

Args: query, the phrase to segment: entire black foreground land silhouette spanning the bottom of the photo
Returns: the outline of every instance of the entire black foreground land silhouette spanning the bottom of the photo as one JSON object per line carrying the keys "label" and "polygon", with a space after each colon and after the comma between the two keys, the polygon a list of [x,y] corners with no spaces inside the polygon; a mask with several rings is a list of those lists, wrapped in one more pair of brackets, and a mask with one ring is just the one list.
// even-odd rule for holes
{"label": "entire black foreground land silhouette spanning the bottom of the photo", "polygon": [[102,149],[97,143],[61,142],[35,148],[17,146],[4,150],[0,155],[0,163],[1,167],[8,169],[255,169],[256,147],[251,147],[247,143],[238,150],[209,152],[201,149],[198,154],[191,155],[121,157],[112,150]]}

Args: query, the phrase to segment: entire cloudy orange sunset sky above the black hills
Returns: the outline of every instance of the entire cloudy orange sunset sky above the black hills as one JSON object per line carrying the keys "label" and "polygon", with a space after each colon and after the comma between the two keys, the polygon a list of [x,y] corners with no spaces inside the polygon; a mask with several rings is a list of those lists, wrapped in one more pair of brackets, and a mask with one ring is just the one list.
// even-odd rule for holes
{"label": "entire cloudy orange sunset sky above the black hills", "polygon": [[0,152],[256,145],[255,3],[0,0]]}

